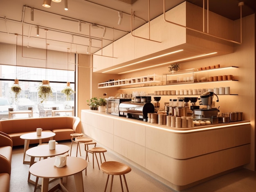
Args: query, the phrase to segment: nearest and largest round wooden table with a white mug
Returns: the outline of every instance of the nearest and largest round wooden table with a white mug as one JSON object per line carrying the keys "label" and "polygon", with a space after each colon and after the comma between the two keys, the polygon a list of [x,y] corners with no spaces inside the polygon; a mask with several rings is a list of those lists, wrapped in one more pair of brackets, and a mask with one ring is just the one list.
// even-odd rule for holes
{"label": "nearest and largest round wooden table with a white mug", "polygon": [[[50,178],[61,178],[74,175],[74,181],[77,192],[83,192],[83,175],[82,171],[87,167],[87,161],[80,157],[67,157],[67,164],[62,168],[54,166],[56,157],[43,159],[34,163],[30,168],[29,172],[36,177],[42,178],[41,192],[48,192],[48,185]],[[62,183],[54,186],[49,191],[55,191],[57,189],[65,189]]]}

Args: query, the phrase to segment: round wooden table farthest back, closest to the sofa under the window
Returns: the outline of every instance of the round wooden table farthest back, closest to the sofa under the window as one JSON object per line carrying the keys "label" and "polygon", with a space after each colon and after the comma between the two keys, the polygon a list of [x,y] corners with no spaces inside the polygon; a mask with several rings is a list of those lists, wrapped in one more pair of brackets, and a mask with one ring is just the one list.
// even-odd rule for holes
{"label": "round wooden table farthest back, closest to the sofa under the window", "polygon": [[54,132],[51,131],[42,131],[41,135],[36,135],[36,132],[30,132],[30,133],[26,133],[20,136],[21,139],[24,139],[24,154],[23,154],[23,163],[29,164],[30,161],[25,161],[25,156],[26,156],[26,151],[29,148],[29,142],[30,140],[39,140],[39,144],[42,144],[42,139],[47,139],[50,138],[53,139],[53,137],[56,134]]}

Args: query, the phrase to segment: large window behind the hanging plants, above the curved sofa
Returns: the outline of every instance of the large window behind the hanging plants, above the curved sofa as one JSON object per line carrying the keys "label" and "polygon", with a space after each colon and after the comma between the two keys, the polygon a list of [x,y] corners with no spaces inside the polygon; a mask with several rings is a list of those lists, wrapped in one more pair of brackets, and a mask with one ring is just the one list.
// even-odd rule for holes
{"label": "large window behind the hanging plants, above the curved sofa", "polygon": [[[16,78],[19,79],[22,89],[18,101],[11,92],[11,86]],[[39,105],[43,108],[57,107],[61,110],[74,107],[74,94],[67,101],[65,95],[61,93],[67,82],[70,82],[70,86],[74,90],[74,79],[74,71],[0,65],[0,97],[9,101],[9,105],[0,106],[0,119],[7,118],[6,115],[10,106],[14,110],[27,110],[28,106],[33,106],[33,117],[39,117]],[[42,80],[50,81],[53,95],[41,103],[37,89]],[[16,117],[22,118],[25,115],[18,114]],[[60,113],[58,115],[69,114]]]}

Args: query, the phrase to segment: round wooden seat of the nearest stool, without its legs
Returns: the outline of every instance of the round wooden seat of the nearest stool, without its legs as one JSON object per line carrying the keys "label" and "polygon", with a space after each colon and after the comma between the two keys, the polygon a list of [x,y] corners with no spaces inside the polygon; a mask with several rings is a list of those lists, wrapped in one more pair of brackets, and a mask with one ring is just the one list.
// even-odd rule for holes
{"label": "round wooden seat of the nearest stool, without its legs", "polygon": [[101,170],[106,174],[123,175],[130,172],[132,169],[117,161],[106,161],[101,164]]}

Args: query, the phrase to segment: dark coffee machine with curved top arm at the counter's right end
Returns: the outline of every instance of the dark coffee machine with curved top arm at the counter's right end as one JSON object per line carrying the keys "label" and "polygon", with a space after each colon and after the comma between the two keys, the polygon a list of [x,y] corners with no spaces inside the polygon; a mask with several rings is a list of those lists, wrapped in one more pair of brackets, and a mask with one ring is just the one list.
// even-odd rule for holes
{"label": "dark coffee machine with curved top arm at the counter's right end", "polygon": [[[202,108],[202,109],[193,109],[193,115],[195,119],[207,119],[209,118],[209,120],[212,122],[212,124],[214,123],[218,123],[218,109],[217,108],[212,108],[212,100],[213,100],[213,96],[216,95],[213,92],[205,92],[202,95],[200,95],[200,105],[205,105],[206,108]],[[216,95],[217,100],[216,102],[219,102],[219,98],[218,95]]]}

